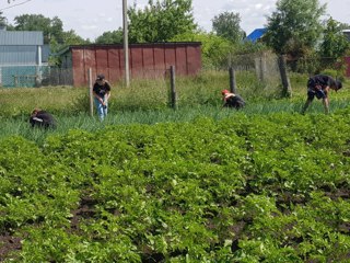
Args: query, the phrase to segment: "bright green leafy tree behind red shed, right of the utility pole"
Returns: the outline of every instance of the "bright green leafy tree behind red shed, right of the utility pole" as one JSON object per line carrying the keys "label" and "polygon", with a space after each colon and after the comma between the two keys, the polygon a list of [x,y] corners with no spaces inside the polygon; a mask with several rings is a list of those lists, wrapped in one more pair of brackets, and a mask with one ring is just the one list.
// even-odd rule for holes
{"label": "bright green leafy tree behind red shed, right of the utility pole", "polygon": [[178,34],[197,28],[191,0],[149,0],[143,10],[128,9],[129,42],[166,42]]}

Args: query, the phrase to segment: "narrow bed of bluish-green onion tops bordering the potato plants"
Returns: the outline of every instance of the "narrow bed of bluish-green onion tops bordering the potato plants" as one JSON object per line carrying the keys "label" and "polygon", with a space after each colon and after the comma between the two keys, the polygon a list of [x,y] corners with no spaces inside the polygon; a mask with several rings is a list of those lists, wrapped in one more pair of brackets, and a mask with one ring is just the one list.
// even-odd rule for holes
{"label": "narrow bed of bluish-green onion tops bordering the potato plants", "polygon": [[[0,117],[0,139],[8,136],[21,136],[33,140],[38,145],[45,142],[47,136],[63,135],[71,129],[83,129],[95,132],[110,125],[130,125],[145,124],[153,125],[156,123],[174,122],[195,122],[197,118],[209,117],[213,119],[223,119],[229,116],[235,118],[245,118],[254,115],[269,115],[275,113],[300,114],[304,100],[273,100],[248,103],[245,108],[236,111],[223,108],[222,106],[198,105],[180,107],[178,110],[137,110],[137,111],[112,111],[104,122],[100,122],[96,116],[91,117],[88,113],[79,114],[59,114],[55,115],[58,123],[57,129],[45,130],[32,128],[28,124],[28,115],[4,118]],[[349,100],[334,100],[331,102],[331,113],[349,107]],[[308,108],[307,114],[324,116],[324,108],[320,102],[315,102]]]}

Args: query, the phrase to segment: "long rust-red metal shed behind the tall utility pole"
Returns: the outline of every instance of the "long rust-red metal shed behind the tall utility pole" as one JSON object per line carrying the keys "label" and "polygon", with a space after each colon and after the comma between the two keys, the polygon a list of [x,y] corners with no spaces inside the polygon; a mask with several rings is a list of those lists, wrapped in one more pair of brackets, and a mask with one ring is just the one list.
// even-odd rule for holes
{"label": "long rust-red metal shed behind the tall utility pole", "polygon": [[[130,44],[129,68],[131,78],[159,78],[175,66],[176,75],[196,75],[201,69],[200,43]],[[70,58],[73,85],[89,84],[89,68],[93,76],[104,73],[109,82],[124,78],[122,45],[70,46],[63,58]],[[66,64],[70,64],[67,62]]]}

